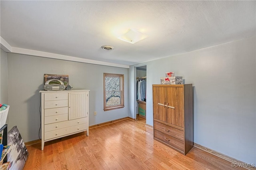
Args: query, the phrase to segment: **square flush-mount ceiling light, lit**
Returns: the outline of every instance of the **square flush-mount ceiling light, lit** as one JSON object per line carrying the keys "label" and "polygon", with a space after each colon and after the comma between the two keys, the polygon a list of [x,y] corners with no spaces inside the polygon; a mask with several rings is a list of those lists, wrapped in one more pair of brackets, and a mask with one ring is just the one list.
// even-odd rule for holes
{"label": "square flush-mount ceiling light, lit", "polygon": [[139,32],[138,30],[132,28],[126,34],[118,37],[118,39],[128,43],[136,43],[148,37],[149,35],[143,34],[142,32]]}

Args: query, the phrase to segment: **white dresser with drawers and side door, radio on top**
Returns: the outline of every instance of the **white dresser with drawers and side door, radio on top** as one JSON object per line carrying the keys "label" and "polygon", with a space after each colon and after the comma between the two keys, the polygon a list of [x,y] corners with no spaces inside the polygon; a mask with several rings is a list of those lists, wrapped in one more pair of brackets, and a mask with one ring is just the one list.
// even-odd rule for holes
{"label": "white dresser with drawers and side door, radio on top", "polygon": [[42,150],[44,142],[87,131],[89,90],[41,90]]}

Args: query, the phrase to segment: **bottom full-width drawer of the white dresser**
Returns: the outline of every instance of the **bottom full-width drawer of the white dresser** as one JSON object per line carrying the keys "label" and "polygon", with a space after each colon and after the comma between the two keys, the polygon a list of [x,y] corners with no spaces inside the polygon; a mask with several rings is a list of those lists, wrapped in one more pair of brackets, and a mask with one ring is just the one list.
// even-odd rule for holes
{"label": "bottom full-width drawer of the white dresser", "polygon": [[59,138],[60,136],[64,136],[70,133],[75,133],[75,132],[81,132],[83,130],[86,130],[87,128],[87,123],[81,124],[81,125],[76,125],[72,127],[67,127],[67,128],[61,128],[58,130],[52,130],[50,132],[45,132],[44,133],[44,140],[48,140],[51,138]]}

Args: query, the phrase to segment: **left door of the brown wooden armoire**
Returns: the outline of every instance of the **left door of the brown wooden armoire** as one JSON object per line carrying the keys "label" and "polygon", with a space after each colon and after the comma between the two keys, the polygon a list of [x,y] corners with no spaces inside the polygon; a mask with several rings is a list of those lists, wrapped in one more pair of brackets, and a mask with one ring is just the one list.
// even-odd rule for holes
{"label": "left door of the brown wooden armoire", "polygon": [[166,122],[166,87],[153,87],[154,119]]}

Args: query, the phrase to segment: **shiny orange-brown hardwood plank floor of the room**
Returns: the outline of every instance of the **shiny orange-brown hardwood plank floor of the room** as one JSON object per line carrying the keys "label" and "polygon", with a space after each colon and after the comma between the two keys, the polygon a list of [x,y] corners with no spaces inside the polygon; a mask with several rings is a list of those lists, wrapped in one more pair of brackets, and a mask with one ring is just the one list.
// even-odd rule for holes
{"label": "shiny orange-brown hardwood plank floor of the room", "polygon": [[27,146],[24,170],[236,170],[193,147],[186,156],[153,139],[145,119],[125,119],[45,143]]}

